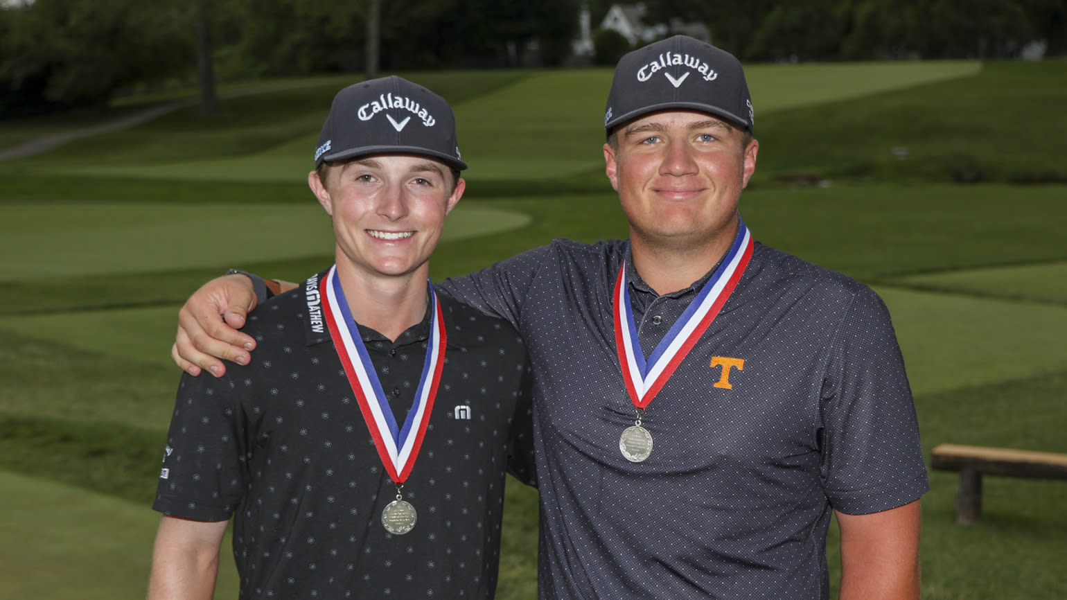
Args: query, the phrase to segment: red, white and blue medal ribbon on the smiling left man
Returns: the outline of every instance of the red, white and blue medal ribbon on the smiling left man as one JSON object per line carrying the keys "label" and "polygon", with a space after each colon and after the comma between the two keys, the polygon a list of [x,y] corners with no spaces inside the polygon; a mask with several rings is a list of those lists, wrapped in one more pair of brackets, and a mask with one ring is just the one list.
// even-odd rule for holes
{"label": "red, white and blue medal ribbon on the smiling left man", "polygon": [[337,278],[336,266],[330,269],[325,281],[325,295],[322,309],[330,337],[337,348],[337,356],[345,367],[352,392],[360,402],[363,419],[367,429],[375,440],[378,456],[382,459],[386,473],[396,485],[408,479],[418,449],[423,446],[426,428],[430,424],[430,413],[433,411],[433,399],[437,395],[441,383],[441,372],[445,364],[445,326],[437,295],[430,285],[430,340],[426,349],[426,362],[423,365],[423,376],[415,391],[415,401],[403,427],[398,427],[389,408],[385,392],[375,373],[367,348],[360,337],[359,327],[352,318]]}

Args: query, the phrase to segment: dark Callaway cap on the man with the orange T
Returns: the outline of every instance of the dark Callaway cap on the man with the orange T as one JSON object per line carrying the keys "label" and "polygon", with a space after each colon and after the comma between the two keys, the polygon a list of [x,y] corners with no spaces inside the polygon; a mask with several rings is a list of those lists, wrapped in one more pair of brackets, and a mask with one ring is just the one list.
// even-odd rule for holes
{"label": "dark Callaway cap on the man with the orange T", "polygon": [[730,52],[675,35],[623,56],[607,95],[604,128],[667,109],[714,114],[752,131],[752,97]]}

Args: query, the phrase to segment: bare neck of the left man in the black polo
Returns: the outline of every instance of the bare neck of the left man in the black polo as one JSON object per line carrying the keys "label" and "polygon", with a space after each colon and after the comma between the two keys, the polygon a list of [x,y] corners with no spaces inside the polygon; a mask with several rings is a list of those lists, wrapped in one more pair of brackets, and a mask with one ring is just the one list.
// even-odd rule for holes
{"label": "bare neck of the left man in the black polo", "polygon": [[399,278],[367,277],[337,263],[337,278],[355,322],[392,341],[426,316],[428,267]]}

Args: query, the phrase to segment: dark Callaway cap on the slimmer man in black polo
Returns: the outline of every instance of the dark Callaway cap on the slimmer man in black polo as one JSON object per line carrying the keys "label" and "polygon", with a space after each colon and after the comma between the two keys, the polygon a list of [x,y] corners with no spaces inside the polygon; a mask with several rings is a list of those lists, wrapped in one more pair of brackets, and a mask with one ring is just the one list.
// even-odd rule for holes
{"label": "dark Callaway cap on the slimmer man in black polo", "polygon": [[315,148],[315,167],[375,154],[415,154],[467,168],[460,160],[452,108],[395,75],[337,92]]}

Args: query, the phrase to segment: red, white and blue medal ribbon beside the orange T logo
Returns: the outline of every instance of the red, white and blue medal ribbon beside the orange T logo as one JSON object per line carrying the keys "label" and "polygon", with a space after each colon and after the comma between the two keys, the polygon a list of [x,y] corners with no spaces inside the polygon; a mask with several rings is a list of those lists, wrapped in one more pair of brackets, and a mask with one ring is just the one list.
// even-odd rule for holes
{"label": "red, white and blue medal ribbon beside the orange T logo", "polygon": [[637,338],[637,326],[634,323],[634,314],[630,305],[625,263],[619,269],[614,296],[615,345],[619,364],[622,366],[622,377],[626,382],[626,392],[630,393],[630,399],[638,410],[648,407],[652,398],[659,393],[659,389],[674,373],[682,359],[689,353],[697,340],[712,325],[730,294],[737,287],[737,282],[752,257],[754,246],[752,235],[739,217],[737,223],[737,236],[719,264],[719,268],[700,288],[700,293],[655,347],[647,362]]}

